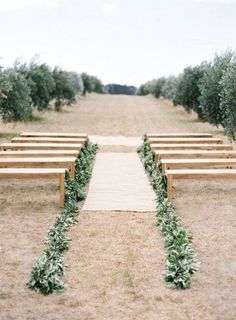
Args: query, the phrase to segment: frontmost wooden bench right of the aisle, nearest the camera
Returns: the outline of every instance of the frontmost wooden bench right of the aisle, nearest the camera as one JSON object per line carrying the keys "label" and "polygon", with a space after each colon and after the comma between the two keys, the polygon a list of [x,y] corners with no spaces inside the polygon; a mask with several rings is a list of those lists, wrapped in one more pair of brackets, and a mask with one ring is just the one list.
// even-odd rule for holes
{"label": "frontmost wooden bench right of the aisle, nearest the camera", "polygon": [[236,169],[177,169],[166,170],[168,199],[173,199],[174,179],[236,179]]}

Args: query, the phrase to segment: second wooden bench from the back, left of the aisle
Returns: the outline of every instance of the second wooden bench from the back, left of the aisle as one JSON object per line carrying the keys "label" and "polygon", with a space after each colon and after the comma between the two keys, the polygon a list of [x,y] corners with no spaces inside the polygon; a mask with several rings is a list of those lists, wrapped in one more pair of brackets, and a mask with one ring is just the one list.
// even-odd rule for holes
{"label": "second wooden bench from the back, left of the aisle", "polygon": [[79,143],[85,144],[84,138],[50,138],[50,137],[15,137],[12,143]]}

